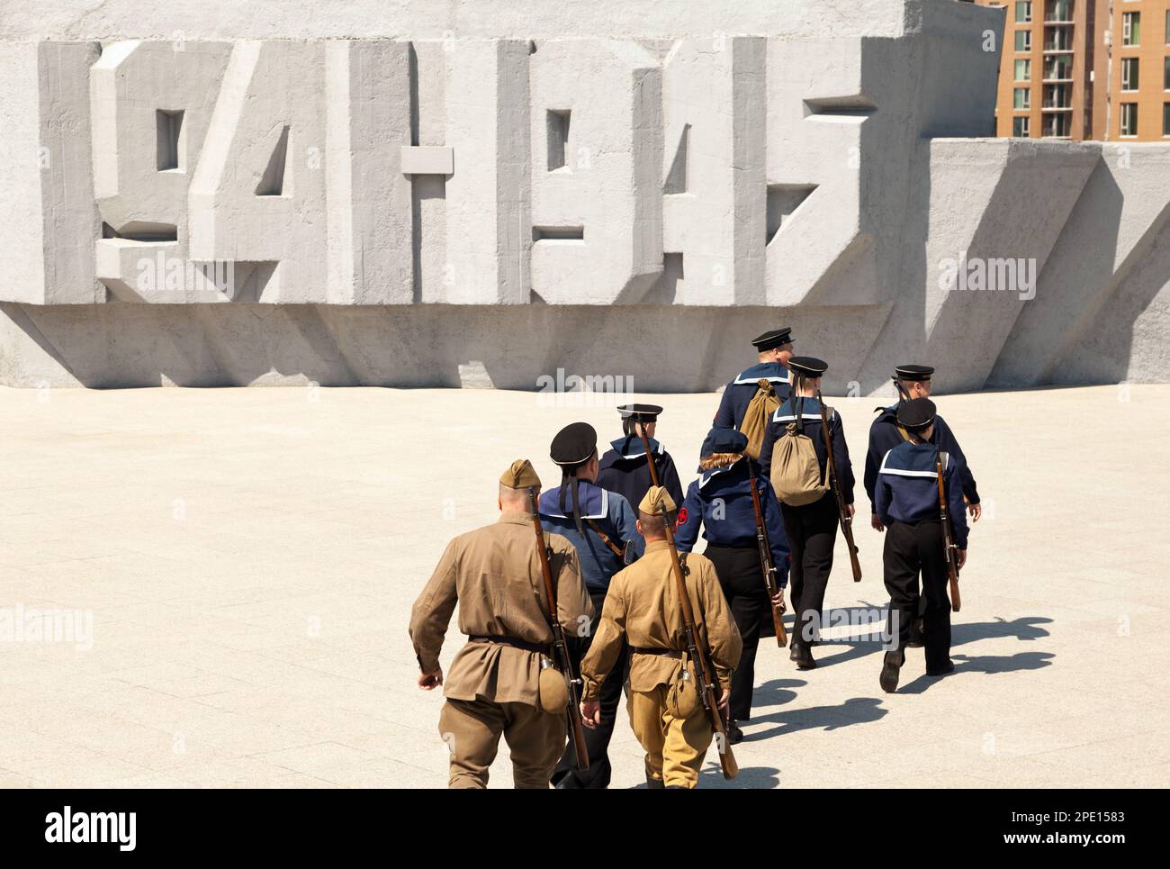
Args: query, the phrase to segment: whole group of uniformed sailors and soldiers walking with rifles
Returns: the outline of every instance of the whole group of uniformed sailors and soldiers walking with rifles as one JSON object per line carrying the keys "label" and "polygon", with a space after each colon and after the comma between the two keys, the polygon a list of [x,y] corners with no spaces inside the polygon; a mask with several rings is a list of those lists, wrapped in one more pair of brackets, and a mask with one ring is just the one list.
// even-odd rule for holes
{"label": "whole group of uniformed sailors and soldiers walking with rifles", "polygon": [[[414,605],[411,637],[419,685],[445,685],[440,732],[452,752],[452,787],[486,787],[501,735],[517,787],[607,787],[624,686],[646,750],[647,786],[696,786],[713,730],[696,693],[702,673],[687,659],[672,550],[717,677],[728,746],[743,739],[739,725],[751,717],[758,641],[784,630],[773,610],[784,611],[785,590],[794,615],[791,659],[799,670],[817,666],[837,533],[854,515],[853,468],[841,420],[821,399],[826,363],[793,355],[789,328],[752,344],[758,363],[723,390],[700,475],[686,493],[655,438],[662,408],[628,404],[618,409],[622,436],[604,454],[591,425],[566,426],[550,447],[560,484],[542,492],[531,463],[515,461],[500,480],[500,521],[448,545]],[[966,515],[980,512],[966,459],[928,397],[932,371],[897,367],[901,401],[879,409],[866,457],[870,525],[886,532],[897,628],[882,661],[886,691],[896,690],[907,648],[925,646],[928,676],[954,670],[944,539],[952,541],[951,564],[962,568]],[[534,518],[552,564],[552,610],[567,635],[569,685],[580,687],[587,757],[571,740],[566,747],[564,682],[558,690],[549,678],[550,601]],[[700,533],[702,554],[693,552]],[[445,679],[439,650],[456,601],[469,642]]]}

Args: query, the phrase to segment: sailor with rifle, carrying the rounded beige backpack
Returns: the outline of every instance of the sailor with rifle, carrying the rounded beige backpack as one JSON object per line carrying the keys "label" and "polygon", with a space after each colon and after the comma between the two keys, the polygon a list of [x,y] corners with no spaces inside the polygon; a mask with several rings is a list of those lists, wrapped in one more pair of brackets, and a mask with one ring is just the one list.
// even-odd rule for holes
{"label": "sailor with rifle, carrying the rounded beige backpack", "polygon": [[[797,433],[803,433],[812,440],[820,466],[820,478],[828,483],[826,471],[827,454],[820,422],[821,375],[828,370],[828,363],[812,356],[793,356],[789,361],[794,384],[792,396],[777,408],[764,432],[764,443],[759,451],[759,464],[764,475],[771,473],[772,450],[776,442],[785,433],[790,423],[799,422]],[[833,443],[833,460],[837,465],[838,483],[845,498],[849,518],[853,516],[853,463],[849,461],[849,449],[845,443],[845,431],[835,410],[828,411],[828,432]],[[833,543],[840,526],[840,513],[837,497],[831,488],[813,501],[800,506],[780,504],[784,515],[784,529],[789,535],[789,548],[792,549],[792,611],[796,614],[796,629],[792,631],[790,657],[797,662],[797,669],[812,670],[817,662],[812,657],[812,646],[820,636],[820,614],[825,604],[825,588],[828,575],[833,570]]]}

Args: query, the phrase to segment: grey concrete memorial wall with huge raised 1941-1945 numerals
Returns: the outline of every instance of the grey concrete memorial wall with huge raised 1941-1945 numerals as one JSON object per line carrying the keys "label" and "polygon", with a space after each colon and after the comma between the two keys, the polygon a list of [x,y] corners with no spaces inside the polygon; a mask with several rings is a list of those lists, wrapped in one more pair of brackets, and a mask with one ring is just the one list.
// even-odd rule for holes
{"label": "grey concrete memorial wall with huge raised 1941-1945 numerals", "polygon": [[1170,378],[1170,145],[989,138],[1002,9],[0,8],[2,383]]}

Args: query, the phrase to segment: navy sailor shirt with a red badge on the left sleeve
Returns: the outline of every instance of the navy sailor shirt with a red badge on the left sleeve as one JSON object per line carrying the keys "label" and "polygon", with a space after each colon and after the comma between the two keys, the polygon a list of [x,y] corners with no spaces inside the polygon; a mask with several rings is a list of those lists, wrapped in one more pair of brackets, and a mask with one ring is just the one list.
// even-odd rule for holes
{"label": "navy sailor shirt with a red badge on the left sleeve", "polygon": [[[703,540],[711,546],[756,546],[756,509],[751,502],[751,483],[748,473],[750,458],[744,457],[728,467],[704,471],[687,488],[687,497],[679,511],[674,542],[679,552],[691,552],[698,541],[698,527],[703,528]],[[789,538],[784,533],[780,502],[776,499],[772,484],[756,473],[759,492],[759,508],[768,529],[768,545],[776,567],[777,584],[789,582]]]}

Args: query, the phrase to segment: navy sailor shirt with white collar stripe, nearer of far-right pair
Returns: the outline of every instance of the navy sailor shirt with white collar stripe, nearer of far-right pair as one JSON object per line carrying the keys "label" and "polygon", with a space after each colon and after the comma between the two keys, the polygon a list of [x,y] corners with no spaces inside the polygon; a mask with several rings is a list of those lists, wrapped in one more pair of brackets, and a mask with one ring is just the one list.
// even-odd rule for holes
{"label": "navy sailor shirt with white collar stripe, nearer of far-right pair", "polygon": [[[921,522],[940,519],[938,468],[935,464],[938,447],[934,444],[911,444],[903,440],[889,450],[878,468],[874,509],[886,525]],[[945,451],[944,451],[945,452]],[[958,463],[945,456],[943,487],[947,511],[950,513],[951,533],[959,549],[966,548],[966,513],[963,511],[963,488],[959,485]]]}

